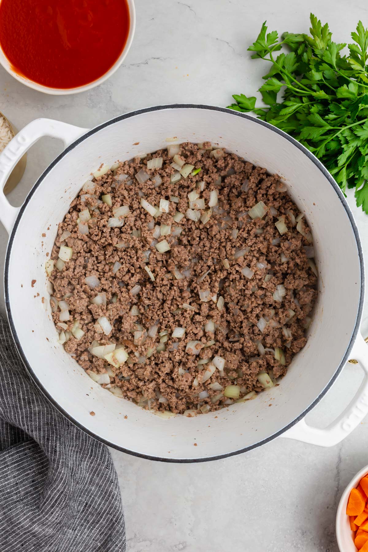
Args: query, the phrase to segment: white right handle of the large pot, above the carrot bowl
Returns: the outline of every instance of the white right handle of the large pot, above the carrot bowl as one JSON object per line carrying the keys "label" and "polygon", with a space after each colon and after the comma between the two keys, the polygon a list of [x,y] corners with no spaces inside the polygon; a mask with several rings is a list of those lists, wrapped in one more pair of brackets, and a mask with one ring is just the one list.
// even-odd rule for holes
{"label": "white right handle of the large pot, above the carrot bowl", "polygon": [[295,426],[282,433],[281,437],[296,439],[320,447],[333,447],[333,445],[345,439],[359,425],[368,414],[368,347],[360,333],[354,343],[351,357],[358,360],[364,371],[364,379],[354,399],[351,400],[344,412],[325,429],[308,426],[305,418],[303,418]]}

